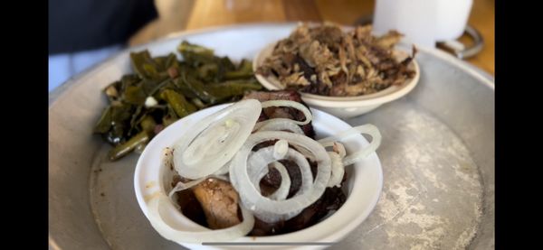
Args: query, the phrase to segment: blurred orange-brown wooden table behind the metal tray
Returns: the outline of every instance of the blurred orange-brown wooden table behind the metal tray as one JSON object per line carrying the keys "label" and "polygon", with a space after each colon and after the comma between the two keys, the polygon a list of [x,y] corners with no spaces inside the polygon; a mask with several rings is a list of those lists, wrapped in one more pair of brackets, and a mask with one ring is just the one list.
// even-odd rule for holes
{"label": "blurred orange-brown wooden table behind the metal tray", "polygon": [[[372,14],[375,0],[155,0],[160,17],[129,41],[149,42],[171,32],[235,23],[331,21],[353,24]],[[494,1],[473,0],[469,23],[484,39],[482,51],[468,59],[494,75]]]}

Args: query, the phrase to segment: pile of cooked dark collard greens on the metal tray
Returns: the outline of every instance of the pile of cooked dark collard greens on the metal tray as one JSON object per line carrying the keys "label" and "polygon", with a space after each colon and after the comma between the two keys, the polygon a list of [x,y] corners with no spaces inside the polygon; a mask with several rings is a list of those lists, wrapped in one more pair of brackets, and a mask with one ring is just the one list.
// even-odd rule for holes
{"label": "pile of cooked dark collard greens on the metal tray", "polygon": [[131,52],[134,73],[104,88],[109,105],[94,133],[114,146],[111,161],[133,151],[141,153],[153,136],[184,116],[262,88],[250,60],[235,65],[228,57],[186,41],[177,52],[158,57],[147,50]]}

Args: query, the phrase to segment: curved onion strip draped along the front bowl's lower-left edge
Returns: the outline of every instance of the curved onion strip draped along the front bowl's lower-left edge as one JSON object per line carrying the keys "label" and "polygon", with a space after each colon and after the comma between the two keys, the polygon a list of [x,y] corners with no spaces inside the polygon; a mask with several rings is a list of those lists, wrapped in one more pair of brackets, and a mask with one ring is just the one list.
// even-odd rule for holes
{"label": "curved onion strip draped along the front bowl's lower-left edge", "polygon": [[167,213],[168,203],[169,200],[164,194],[149,200],[148,218],[158,234],[177,244],[229,241],[246,236],[254,226],[254,218],[251,212],[241,206],[243,221],[240,224],[224,229],[206,229],[197,232],[184,231],[182,228],[174,227],[173,221],[164,216]]}

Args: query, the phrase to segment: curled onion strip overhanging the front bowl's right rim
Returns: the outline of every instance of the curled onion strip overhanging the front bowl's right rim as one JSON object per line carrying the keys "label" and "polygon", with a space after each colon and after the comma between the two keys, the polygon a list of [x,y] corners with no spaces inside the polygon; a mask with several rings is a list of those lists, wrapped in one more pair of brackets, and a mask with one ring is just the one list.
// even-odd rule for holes
{"label": "curled onion strip overhanging the front bowl's right rim", "polygon": [[359,162],[367,157],[368,154],[374,153],[381,144],[381,134],[379,129],[375,125],[359,125],[355,126],[347,131],[340,132],[338,134],[329,136],[327,138],[319,140],[320,144],[329,144],[330,142],[341,141],[342,138],[351,134],[368,134],[372,137],[371,143],[364,149],[357,153],[350,154],[343,158],[343,165],[348,166],[354,162]]}

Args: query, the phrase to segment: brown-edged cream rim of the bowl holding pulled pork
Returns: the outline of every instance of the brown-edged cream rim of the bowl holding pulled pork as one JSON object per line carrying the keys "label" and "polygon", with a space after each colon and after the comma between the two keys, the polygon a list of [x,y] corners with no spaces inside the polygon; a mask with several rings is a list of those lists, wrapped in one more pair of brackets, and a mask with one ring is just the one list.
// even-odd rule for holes
{"label": "brown-edged cream rim of the bowl holding pulled pork", "polygon": [[[264,77],[262,76],[262,74],[256,73],[256,69],[258,69],[262,61],[271,54],[271,51],[273,51],[275,44],[277,44],[278,42],[279,41],[271,42],[263,47],[262,50],[259,51],[252,60],[252,70],[253,72],[255,72],[255,78],[262,84],[264,88],[267,88],[268,90],[281,90],[281,88],[279,87],[279,80],[275,77]],[[395,52],[406,54],[405,51],[401,51],[398,49],[395,49]],[[328,97],[303,93],[300,91],[299,92],[305,102],[310,105],[316,106],[351,107],[381,105],[387,102],[394,101],[395,99],[398,99],[400,97],[404,97],[409,92],[411,92],[411,90],[413,90],[413,88],[417,85],[421,74],[419,64],[415,59],[413,59],[410,62],[410,65],[412,65],[415,72],[413,79],[408,79],[399,86],[390,86],[376,93],[368,95],[362,95],[357,97]]]}

